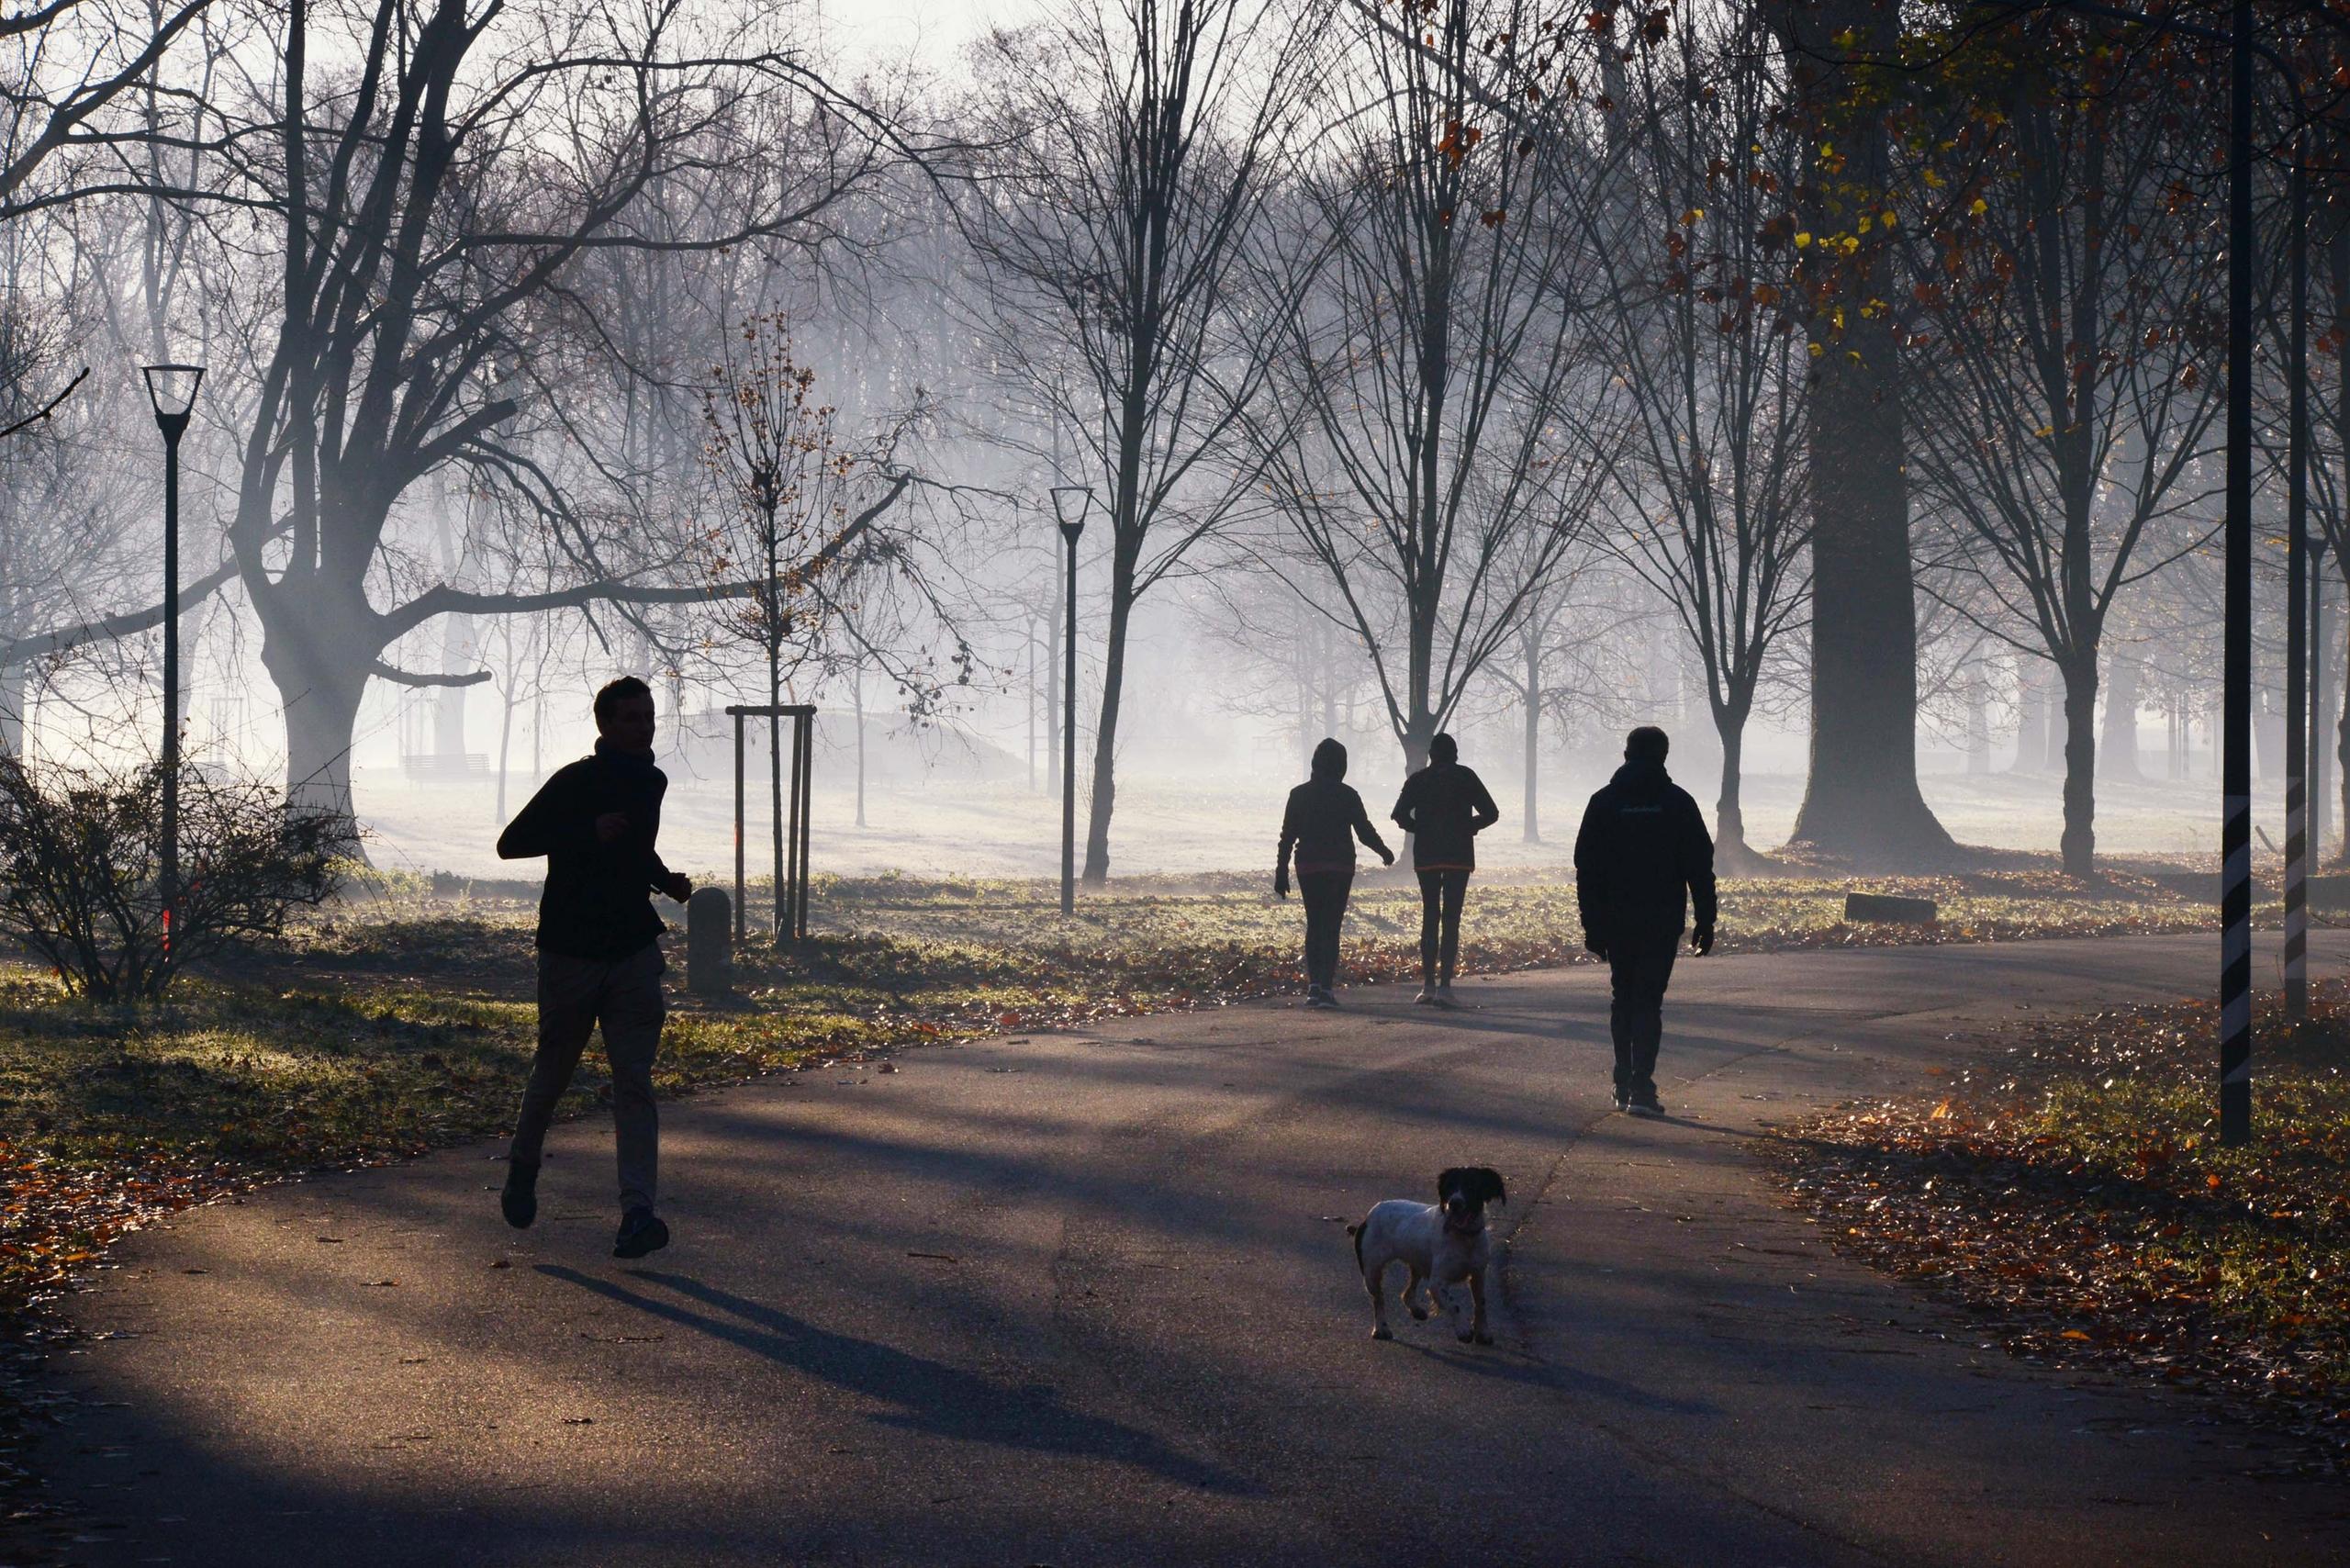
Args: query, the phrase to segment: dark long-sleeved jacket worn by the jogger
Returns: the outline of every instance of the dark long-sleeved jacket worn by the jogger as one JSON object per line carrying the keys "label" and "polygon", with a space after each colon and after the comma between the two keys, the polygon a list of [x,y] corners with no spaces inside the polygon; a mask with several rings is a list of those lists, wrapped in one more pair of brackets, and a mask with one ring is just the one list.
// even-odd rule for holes
{"label": "dark long-sleeved jacket worn by the jogger", "polygon": [[[597,741],[592,757],[557,769],[505,825],[501,860],[548,858],[538,896],[543,950],[611,964],[665,931],[649,896],[670,879],[653,849],[667,790],[667,773],[649,757]],[[627,816],[611,844],[595,837],[595,820],[606,811]]]}

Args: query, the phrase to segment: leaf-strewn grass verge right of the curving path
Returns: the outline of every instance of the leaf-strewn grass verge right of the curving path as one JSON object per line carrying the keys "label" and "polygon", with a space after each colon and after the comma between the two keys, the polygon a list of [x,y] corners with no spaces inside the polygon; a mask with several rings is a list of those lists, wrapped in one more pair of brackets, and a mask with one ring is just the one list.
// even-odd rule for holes
{"label": "leaf-strewn grass verge right of the curving path", "polygon": [[2021,1356],[2204,1389],[2350,1469],[2350,987],[2256,1006],[2256,1138],[2221,1147],[2216,1009],[2021,1032],[1948,1091],[1755,1147],[1831,1241]]}

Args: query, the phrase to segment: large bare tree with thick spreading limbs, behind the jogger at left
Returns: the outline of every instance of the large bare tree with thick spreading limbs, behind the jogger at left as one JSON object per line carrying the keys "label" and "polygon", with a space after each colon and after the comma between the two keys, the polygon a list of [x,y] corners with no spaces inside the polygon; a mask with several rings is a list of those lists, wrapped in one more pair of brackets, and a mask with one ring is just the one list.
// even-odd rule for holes
{"label": "large bare tree with thick spreading limbs, behind the jogger at left", "polygon": [[[435,616],[712,592],[691,581],[689,541],[649,552],[627,508],[573,505],[550,456],[578,442],[536,357],[578,324],[585,296],[566,284],[583,256],[815,237],[830,205],[907,153],[759,26],[679,0],[284,0],[270,68],[235,96],[228,179],[179,195],[249,214],[270,277],[230,545],[284,698],[287,776],[324,806],[350,811],[369,679],[486,677],[385,661]],[[649,190],[693,181],[717,207],[693,237],[646,221]],[[397,503],[451,463],[538,515],[543,588],[388,571]]]}

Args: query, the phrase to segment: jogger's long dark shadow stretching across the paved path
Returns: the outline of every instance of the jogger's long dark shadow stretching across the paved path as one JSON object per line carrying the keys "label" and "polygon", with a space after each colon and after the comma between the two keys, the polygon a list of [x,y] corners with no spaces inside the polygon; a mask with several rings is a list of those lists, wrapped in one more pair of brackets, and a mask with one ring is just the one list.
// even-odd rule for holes
{"label": "jogger's long dark shadow stretching across the paved path", "polygon": [[879,1425],[907,1427],[954,1441],[1036,1448],[1088,1460],[1114,1460],[1152,1469],[1184,1486],[1243,1495],[1253,1488],[1215,1465],[1175,1453],[1149,1432],[1102,1415],[1072,1410],[1053,1389],[1008,1387],[945,1361],[916,1356],[874,1340],[858,1340],[818,1328],[790,1312],[707,1286],[691,1274],[630,1269],[630,1279],[663,1286],[724,1316],[696,1312],[679,1302],[639,1295],[609,1279],[580,1274],[559,1262],[536,1265],[548,1279],[562,1279],[595,1291],[649,1316],[707,1333],[811,1378],[822,1378],[851,1394],[893,1406],[877,1415]]}

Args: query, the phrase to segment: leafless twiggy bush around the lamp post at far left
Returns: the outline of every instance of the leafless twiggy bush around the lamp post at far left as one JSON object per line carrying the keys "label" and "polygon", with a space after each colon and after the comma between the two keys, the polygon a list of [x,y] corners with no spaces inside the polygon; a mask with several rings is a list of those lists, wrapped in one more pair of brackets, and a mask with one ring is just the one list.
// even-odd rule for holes
{"label": "leafless twiggy bush around the lamp post at far left", "polygon": [[78,997],[160,997],[188,964],[280,936],[324,903],[352,846],[343,818],[261,783],[181,769],[179,910],[162,919],[162,766],[106,771],[0,757],[0,931]]}

